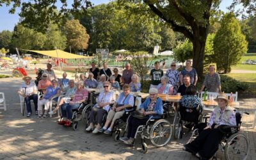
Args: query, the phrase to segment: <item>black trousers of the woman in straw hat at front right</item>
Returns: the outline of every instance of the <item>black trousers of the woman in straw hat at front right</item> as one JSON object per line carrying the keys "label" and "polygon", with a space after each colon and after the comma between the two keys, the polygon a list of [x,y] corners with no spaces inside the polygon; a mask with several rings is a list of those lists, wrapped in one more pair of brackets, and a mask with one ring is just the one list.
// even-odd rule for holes
{"label": "black trousers of the woman in straw hat at front right", "polygon": [[194,154],[199,153],[204,159],[210,159],[218,150],[224,133],[220,129],[205,129],[194,141],[185,145]]}

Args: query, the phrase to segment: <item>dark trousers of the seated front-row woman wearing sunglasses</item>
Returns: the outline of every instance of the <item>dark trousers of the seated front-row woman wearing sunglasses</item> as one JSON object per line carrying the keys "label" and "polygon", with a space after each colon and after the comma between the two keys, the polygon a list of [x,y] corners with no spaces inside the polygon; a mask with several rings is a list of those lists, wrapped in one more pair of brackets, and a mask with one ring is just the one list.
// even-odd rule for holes
{"label": "dark trousers of the seated front-row woman wearing sunglasses", "polygon": [[92,108],[90,113],[90,123],[96,122],[96,124],[102,124],[103,116],[108,112],[103,108]]}

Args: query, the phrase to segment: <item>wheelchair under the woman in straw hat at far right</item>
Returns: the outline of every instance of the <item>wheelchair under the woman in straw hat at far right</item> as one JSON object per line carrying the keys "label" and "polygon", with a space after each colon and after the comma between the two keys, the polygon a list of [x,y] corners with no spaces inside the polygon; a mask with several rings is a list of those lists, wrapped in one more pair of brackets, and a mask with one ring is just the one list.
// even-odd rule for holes
{"label": "wheelchair under the woman in straw hat at far right", "polygon": [[[236,110],[235,110],[236,111]],[[249,114],[249,113],[245,113]],[[249,154],[249,140],[247,136],[245,136],[243,133],[240,133],[240,127],[241,127],[241,118],[242,114],[239,112],[236,112],[236,122],[237,125],[223,125],[221,126],[221,130],[225,132],[223,135],[222,140],[219,144],[219,150],[221,152],[221,155],[225,156],[225,159],[246,159],[246,157]],[[188,143],[195,140],[195,138],[198,136],[200,132],[200,129],[195,129],[191,137],[189,138]],[[212,157],[212,159],[217,159],[216,153],[218,150],[216,150],[215,155]],[[224,152],[224,153],[223,153]]]}

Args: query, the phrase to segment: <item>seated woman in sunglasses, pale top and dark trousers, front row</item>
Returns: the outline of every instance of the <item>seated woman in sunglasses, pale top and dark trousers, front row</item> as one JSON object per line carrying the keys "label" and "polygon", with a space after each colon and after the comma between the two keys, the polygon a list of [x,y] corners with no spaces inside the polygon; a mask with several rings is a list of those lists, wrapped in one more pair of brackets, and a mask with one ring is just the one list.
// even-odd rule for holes
{"label": "seated woman in sunglasses, pale top and dark trousers, front row", "polygon": [[[110,110],[110,105],[113,104],[116,100],[115,92],[110,90],[111,84],[106,81],[103,83],[104,91],[100,92],[99,96],[96,99],[97,104],[93,106],[92,111],[89,115],[89,126],[85,131],[92,131],[93,133],[103,132],[104,129],[100,128],[104,122],[104,117],[108,115]],[[93,129],[93,123],[96,122],[97,127]],[[86,124],[87,125],[87,124]]]}

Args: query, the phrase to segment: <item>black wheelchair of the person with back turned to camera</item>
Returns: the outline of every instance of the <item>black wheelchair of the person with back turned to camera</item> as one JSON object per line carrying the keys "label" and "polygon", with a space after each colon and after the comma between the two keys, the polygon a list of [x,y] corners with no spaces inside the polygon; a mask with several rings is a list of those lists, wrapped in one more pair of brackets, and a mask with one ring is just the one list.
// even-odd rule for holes
{"label": "black wheelchair of the person with back turned to camera", "polygon": [[[203,108],[200,104],[196,108],[191,108],[192,112],[188,111],[188,108],[182,107],[179,102],[179,109],[176,111],[174,120],[173,120],[173,138],[181,139],[184,131],[183,128],[186,125],[189,125],[189,131],[195,127],[198,122],[202,122],[202,111]],[[180,114],[181,113],[181,114]]]}

